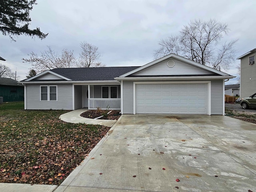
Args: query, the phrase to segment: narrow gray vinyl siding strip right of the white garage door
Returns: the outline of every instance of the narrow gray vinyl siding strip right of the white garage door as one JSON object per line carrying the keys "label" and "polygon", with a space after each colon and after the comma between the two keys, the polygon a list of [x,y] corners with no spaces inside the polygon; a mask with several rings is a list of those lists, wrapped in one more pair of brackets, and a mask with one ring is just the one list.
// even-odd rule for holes
{"label": "narrow gray vinyl siding strip right of the white garage door", "polygon": [[211,114],[223,114],[223,80],[211,81]]}

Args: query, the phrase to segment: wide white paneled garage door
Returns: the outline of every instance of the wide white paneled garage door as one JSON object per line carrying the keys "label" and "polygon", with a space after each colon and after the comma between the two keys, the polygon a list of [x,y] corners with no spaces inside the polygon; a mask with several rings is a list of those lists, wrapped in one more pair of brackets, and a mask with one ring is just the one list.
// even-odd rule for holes
{"label": "wide white paneled garage door", "polygon": [[136,113],[207,114],[208,86],[193,84],[136,84]]}

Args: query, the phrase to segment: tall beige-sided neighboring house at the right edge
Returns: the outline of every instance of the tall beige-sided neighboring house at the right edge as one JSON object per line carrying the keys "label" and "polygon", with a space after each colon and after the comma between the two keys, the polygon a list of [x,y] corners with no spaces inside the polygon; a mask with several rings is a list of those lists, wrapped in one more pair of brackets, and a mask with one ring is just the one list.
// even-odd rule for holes
{"label": "tall beige-sided neighboring house at the right edge", "polygon": [[240,98],[256,93],[256,48],[238,57],[240,59]]}

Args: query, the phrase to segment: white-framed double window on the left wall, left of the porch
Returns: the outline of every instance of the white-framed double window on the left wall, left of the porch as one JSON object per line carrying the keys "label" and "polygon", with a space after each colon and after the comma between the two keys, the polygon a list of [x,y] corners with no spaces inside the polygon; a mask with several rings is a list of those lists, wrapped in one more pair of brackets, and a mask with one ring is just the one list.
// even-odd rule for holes
{"label": "white-framed double window on the left wall, left of the porch", "polygon": [[57,101],[57,86],[46,85],[40,86],[41,101]]}

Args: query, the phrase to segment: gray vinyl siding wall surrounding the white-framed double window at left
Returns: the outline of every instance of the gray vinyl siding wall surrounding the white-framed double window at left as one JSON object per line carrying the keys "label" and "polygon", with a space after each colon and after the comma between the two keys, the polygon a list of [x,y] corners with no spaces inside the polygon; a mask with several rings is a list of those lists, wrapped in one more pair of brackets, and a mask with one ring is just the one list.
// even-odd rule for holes
{"label": "gray vinyl siding wall surrounding the white-framed double window at left", "polygon": [[[44,84],[48,85],[48,84]],[[72,84],[57,85],[57,101],[40,101],[40,84],[28,84],[26,86],[27,109],[73,109]]]}

